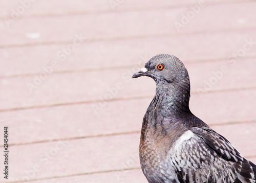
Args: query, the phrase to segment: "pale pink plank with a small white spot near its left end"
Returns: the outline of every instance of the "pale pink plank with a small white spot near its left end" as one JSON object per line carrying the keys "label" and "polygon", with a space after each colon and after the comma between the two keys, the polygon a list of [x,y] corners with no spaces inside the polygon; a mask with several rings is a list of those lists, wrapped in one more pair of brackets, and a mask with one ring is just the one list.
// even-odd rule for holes
{"label": "pale pink plank with a small white spot near its left end", "polygon": [[[0,47],[55,42],[72,43],[75,35],[87,37],[87,40],[108,40],[255,28],[254,24],[251,24],[256,21],[255,2],[197,6],[194,10],[191,7],[181,7],[61,17],[18,18],[9,23],[9,27],[5,19],[2,19],[0,27],[6,27],[6,29],[2,31],[4,36],[1,37]],[[232,14],[232,16],[226,16],[226,14]],[[211,19],[215,21],[209,21]]]}

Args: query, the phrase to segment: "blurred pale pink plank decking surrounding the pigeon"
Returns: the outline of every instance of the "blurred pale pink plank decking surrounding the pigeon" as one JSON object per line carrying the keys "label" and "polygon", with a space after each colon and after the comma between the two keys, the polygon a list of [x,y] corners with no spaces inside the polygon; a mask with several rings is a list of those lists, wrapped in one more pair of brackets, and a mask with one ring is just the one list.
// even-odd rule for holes
{"label": "blurred pale pink plank decking surrounding the pigeon", "polygon": [[[256,163],[256,1],[12,0],[0,6],[1,182],[147,182],[156,54],[187,67],[191,111]],[[4,156],[0,155],[0,169]]]}

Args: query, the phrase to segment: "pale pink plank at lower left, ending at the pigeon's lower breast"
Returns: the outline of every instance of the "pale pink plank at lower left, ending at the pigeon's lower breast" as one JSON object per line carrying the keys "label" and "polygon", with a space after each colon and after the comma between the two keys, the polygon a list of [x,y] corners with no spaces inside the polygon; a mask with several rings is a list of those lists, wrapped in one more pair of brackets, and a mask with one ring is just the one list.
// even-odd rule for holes
{"label": "pale pink plank at lower left, ending at the pigeon's lower breast", "polygon": [[[11,146],[11,176],[1,180],[12,182],[138,169],[139,138],[137,133]],[[0,157],[2,162],[3,158]]]}

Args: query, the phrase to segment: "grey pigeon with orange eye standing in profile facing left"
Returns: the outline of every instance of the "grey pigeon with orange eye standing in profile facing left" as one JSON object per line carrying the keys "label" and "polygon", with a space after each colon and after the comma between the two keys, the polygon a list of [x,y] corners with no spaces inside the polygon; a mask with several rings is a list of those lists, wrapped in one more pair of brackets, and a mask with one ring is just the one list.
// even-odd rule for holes
{"label": "grey pigeon with orange eye standing in profile facing left", "polygon": [[148,182],[255,182],[256,166],[191,113],[188,72],[177,57],[154,56],[133,78],[140,76],[156,82],[139,148]]}

